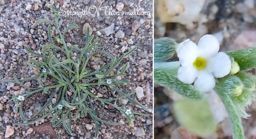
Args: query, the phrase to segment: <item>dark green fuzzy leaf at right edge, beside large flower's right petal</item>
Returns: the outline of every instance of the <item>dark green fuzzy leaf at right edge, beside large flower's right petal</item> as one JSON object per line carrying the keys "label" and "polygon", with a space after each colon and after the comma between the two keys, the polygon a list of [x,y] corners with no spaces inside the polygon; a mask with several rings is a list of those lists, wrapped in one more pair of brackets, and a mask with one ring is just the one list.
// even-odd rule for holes
{"label": "dark green fuzzy leaf at right edge, beside large flower's right petal", "polygon": [[235,59],[240,66],[240,70],[256,68],[256,48],[229,51],[227,54]]}

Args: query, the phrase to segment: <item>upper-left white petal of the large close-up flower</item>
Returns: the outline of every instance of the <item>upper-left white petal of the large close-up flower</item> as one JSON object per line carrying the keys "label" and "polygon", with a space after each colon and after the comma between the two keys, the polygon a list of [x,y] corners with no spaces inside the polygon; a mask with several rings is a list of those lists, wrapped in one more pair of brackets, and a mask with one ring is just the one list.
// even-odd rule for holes
{"label": "upper-left white petal of the large close-up flower", "polygon": [[189,63],[193,63],[197,55],[198,47],[190,40],[183,42],[177,49],[177,56],[184,67],[188,66]]}

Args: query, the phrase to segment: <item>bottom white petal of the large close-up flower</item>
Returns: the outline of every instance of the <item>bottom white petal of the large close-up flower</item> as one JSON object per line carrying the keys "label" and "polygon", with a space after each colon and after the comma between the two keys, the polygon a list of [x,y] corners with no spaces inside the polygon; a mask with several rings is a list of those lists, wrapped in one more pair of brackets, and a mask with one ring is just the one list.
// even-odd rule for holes
{"label": "bottom white petal of the large close-up flower", "polygon": [[214,76],[207,71],[202,71],[197,74],[194,86],[201,92],[208,92],[215,87],[215,84]]}

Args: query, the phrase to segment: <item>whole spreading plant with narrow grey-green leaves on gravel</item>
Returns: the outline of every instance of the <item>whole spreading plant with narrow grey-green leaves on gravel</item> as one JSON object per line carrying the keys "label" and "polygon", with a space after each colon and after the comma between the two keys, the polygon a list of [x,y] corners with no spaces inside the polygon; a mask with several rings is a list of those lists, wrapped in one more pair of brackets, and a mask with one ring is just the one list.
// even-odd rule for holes
{"label": "whole spreading plant with narrow grey-green leaves on gravel", "polygon": [[[24,121],[23,123],[13,123],[14,125],[28,125],[34,124],[44,118],[49,114],[53,114],[52,126],[56,127],[63,125],[67,133],[72,134],[71,124],[72,120],[77,120],[86,116],[90,116],[95,122],[95,138],[98,136],[99,124],[106,123],[110,125],[118,125],[121,122],[111,122],[108,120],[103,120],[99,118],[95,111],[94,102],[100,102],[102,106],[107,104],[108,106],[114,107],[116,110],[120,111],[125,117],[128,118],[129,124],[131,123],[132,118],[134,119],[134,114],[140,114],[147,116],[147,114],[141,114],[125,106],[118,106],[115,104],[116,100],[121,98],[126,98],[130,102],[141,107],[145,111],[148,111],[147,107],[144,107],[139,102],[133,100],[130,95],[133,95],[135,91],[130,93],[124,93],[117,88],[118,85],[124,85],[129,83],[129,81],[117,81],[115,78],[117,76],[124,76],[126,69],[129,67],[129,63],[119,67],[119,73],[115,74],[114,69],[121,63],[121,60],[124,57],[127,57],[130,53],[135,51],[136,47],[125,53],[119,58],[112,56],[107,51],[101,51],[101,46],[98,44],[99,38],[94,39],[94,35],[89,36],[89,28],[87,29],[86,43],[84,46],[79,48],[76,45],[71,47],[67,46],[65,33],[71,28],[78,28],[78,25],[71,24],[67,26],[61,32],[61,25],[58,24],[59,14],[52,5],[52,10],[54,12],[53,21],[48,19],[39,19],[35,22],[35,25],[40,25],[42,23],[50,23],[55,26],[58,31],[58,36],[55,36],[55,42],[52,39],[51,25],[48,25],[48,37],[49,44],[46,44],[42,48],[41,54],[30,50],[25,47],[26,51],[36,56],[37,60],[30,58],[28,65],[34,69],[40,70],[38,75],[32,76],[27,79],[18,79],[16,76],[13,76],[14,80],[6,80],[3,82],[16,82],[20,86],[27,88],[25,94],[13,95],[13,98],[9,101],[16,102],[16,107],[19,107],[20,117]],[[57,35],[56,34],[56,35]],[[74,52],[78,52],[75,54]],[[66,58],[58,58],[58,54]],[[97,57],[96,55],[100,54],[102,56],[109,57],[111,62],[106,63],[105,65],[100,65],[98,69],[90,69],[88,63],[90,62],[91,57]],[[111,73],[114,74],[111,74]],[[41,80],[42,78],[53,80],[51,86],[47,86]],[[23,82],[30,80],[37,80],[38,87],[27,87]],[[104,98],[99,97],[94,93],[94,88],[102,86],[107,87],[109,90],[119,93],[116,98]],[[68,90],[69,93],[68,93]],[[36,111],[31,117],[24,115],[24,101],[27,101],[27,98],[34,95],[35,93],[41,93],[41,95],[49,95],[46,103],[42,104],[40,110]],[[56,98],[56,102],[51,103],[53,98]],[[71,114],[74,114],[75,117],[72,117]],[[108,118],[106,118],[108,119]]]}

